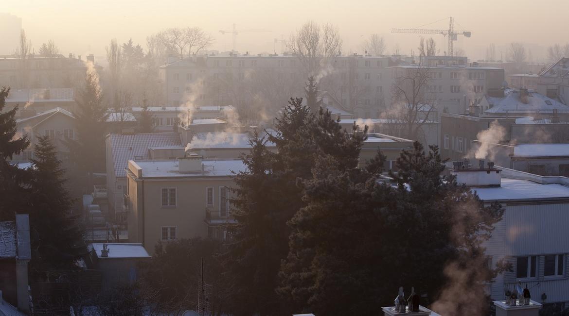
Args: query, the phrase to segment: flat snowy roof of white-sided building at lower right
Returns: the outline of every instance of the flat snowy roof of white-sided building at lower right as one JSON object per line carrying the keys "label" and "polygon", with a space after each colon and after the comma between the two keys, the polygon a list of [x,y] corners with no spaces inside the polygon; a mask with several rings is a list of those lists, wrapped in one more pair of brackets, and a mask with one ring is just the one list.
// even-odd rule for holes
{"label": "flat snowy roof of white-sided building at lower right", "polygon": [[561,184],[539,184],[529,180],[502,177],[501,186],[472,188],[484,201],[510,199],[569,198],[569,187]]}

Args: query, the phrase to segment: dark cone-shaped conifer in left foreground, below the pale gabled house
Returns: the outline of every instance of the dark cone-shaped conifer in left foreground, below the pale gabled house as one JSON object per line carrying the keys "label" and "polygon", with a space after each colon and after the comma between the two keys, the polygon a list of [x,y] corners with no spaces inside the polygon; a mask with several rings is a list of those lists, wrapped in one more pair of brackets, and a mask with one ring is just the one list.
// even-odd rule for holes
{"label": "dark cone-shaped conifer in left foreground, below the pale gabled house", "polygon": [[34,145],[30,267],[40,273],[49,269],[70,269],[86,253],[79,217],[72,214],[72,199],[65,189],[65,170],[57,160],[57,148],[48,136]]}

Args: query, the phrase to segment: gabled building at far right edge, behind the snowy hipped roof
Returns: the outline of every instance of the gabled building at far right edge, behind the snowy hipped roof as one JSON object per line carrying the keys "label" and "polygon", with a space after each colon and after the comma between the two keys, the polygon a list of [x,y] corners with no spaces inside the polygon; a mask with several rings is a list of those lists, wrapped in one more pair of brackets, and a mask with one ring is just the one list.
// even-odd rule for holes
{"label": "gabled building at far right edge, behind the snowy hipped roof", "polygon": [[537,92],[569,104],[569,58],[562,58],[539,72]]}

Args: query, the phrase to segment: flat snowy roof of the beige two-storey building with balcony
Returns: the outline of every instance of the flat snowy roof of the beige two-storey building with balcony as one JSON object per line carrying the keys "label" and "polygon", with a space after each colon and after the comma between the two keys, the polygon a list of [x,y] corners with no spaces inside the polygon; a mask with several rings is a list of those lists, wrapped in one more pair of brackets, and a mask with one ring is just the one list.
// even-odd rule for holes
{"label": "flat snowy roof of the beige two-storey building with balcony", "polygon": [[179,172],[178,160],[134,160],[133,163],[142,169],[144,178],[227,177],[246,170],[241,160],[204,159],[204,171],[195,173]]}

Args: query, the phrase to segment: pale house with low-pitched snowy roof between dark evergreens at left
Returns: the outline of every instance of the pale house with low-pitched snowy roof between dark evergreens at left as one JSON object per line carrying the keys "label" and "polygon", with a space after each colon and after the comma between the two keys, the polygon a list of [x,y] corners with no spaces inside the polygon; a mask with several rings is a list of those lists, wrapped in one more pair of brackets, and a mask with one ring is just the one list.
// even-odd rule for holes
{"label": "pale house with low-pitched snowy roof between dark evergreens at left", "polygon": [[27,118],[16,120],[18,136],[28,135],[30,146],[19,155],[12,157],[13,163],[27,163],[34,158],[34,145],[38,143],[39,136],[50,136],[56,145],[58,158],[67,163],[69,148],[67,141],[77,137],[75,130],[75,117],[67,110],[55,109],[40,112]]}

